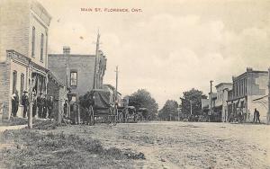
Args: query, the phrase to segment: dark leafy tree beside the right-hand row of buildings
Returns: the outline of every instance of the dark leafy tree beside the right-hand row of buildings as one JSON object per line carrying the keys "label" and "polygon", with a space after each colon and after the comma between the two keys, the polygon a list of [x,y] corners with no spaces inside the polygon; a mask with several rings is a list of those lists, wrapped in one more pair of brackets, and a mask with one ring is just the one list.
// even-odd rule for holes
{"label": "dark leafy tree beside the right-hand row of buildings", "polygon": [[182,112],[184,114],[191,113],[191,105],[193,114],[202,113],[202,99],[207,99],[207,96],[197,89],[192,89],[190,91],[184,92],[182,100]]}

